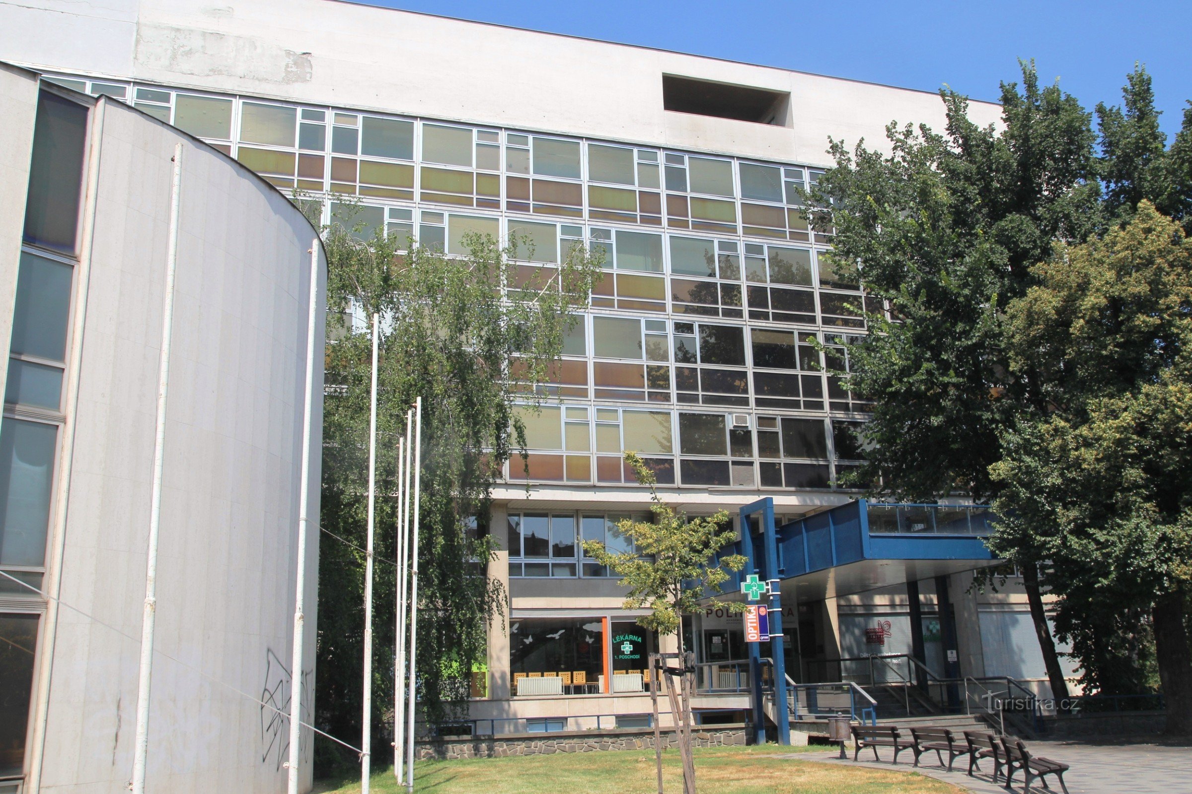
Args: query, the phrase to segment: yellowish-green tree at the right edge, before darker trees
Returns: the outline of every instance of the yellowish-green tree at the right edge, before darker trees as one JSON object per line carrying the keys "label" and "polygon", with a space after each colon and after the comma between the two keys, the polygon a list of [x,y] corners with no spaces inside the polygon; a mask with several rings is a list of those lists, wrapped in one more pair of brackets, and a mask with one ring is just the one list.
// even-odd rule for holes
{"label": "yellowish-green tree at the right edge, before darker trees", "polygon": [[1192,243],[1147,200],[1131,214],[1104,239],[1058,246],[1006,307],[1010,369],[1048,408],[1002,434],[992,545],[1050,561],[1061,627],[1078,636],[1091,617],[1149,614],[1168,731],[1186,734]]}

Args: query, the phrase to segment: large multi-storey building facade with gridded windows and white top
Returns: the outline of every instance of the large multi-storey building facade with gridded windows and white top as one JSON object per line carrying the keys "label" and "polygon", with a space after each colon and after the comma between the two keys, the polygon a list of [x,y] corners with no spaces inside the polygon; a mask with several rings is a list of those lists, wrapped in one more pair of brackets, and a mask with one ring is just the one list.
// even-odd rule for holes
{"label": "large multi-storey building facade with gridded windows and white top", "polygon": [[[41,29],[57,35],[24,33]],[[940,129],[937,95],[334,0],[0,2],[0,31],[14,61],[318,198],[324,221],[359,202],[371,229],[448,254],[467,232],[527,236],[526,280],[571,246],[604,251],[558,404],[527,413],[528,469],[515,458],[496,493],[490,573],[510,611],[473,717],[541,727],[650,709],[653,642],[581,546],[625,548],[615,520],[648,508],[625,450],[693,514],[770,498],[796,527],[861,495],[834,483],[869,406],[825,370],[848,371],[842,342],[883,307],[826,265],[831,233],[808,229],[799,190],[831,165],[830,138],[882,148],[892,120]],[[999,112],[970,105],[981,124]],[[976,513],[871,506],[869,531],[974,538]],[[842,657],[921,646],[940,674],[955,651],[964,675],[1041,681],[1017,580],[970,592],[994,561],[936,549],[931,564],[783,574],[788,673],[832,677]],[[739,618],[712,609],[687,631],[701,661],[744,658]]]}

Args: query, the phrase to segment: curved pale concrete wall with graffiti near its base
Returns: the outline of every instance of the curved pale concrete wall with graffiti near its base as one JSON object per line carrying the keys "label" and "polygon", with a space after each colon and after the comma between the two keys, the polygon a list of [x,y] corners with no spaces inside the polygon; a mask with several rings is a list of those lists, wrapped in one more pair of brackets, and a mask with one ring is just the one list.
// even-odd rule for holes
{"label": "curved pale concrete wall with graffiti near its base", "polygon": [[[174,794],[285,789],[296,531],[315,232],[238,164],[101,100],[94,236],[76,279],[51,577],[43,793],[126,790],[153,479],[170,179],[184,144],[148,783]],[[322,248],[316,244],[322,258]],[[325,260],[319,268],[325,279]],[[317,338],[323,338],[323,312]],[[308,508],[317,520],[322,348]],[[69,404],[69,401],[68,401]],[[72,433],[63,436],[70,439]],[[317,524],[308,530],[302,699],[313,695]],[[305,732],[304,761],[311,758]],[[36,754],[38,748],[33,749]],[[35,755],[36,761],[36,755]],[[310,765],[304,768],[310,775]]]}

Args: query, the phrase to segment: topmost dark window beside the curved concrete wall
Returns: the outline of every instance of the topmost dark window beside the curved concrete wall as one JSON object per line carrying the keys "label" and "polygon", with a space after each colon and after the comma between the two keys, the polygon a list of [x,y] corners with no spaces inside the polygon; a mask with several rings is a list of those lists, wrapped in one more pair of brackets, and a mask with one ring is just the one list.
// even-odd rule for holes
{"label": "topmost dark window beside the curved concrete wall", "polygon": [[82,196],[87,108],[42,90],[25,202],[25,242],[74,254]]}

